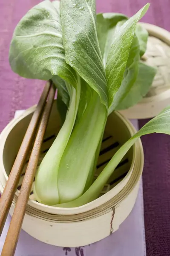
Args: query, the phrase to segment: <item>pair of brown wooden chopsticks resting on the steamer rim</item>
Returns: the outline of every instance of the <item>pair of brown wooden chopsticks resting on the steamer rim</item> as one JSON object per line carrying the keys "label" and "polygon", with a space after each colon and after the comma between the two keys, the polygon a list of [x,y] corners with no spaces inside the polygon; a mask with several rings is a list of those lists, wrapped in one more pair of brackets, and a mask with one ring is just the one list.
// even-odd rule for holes
{"label": "pair of brown wooden chopsticks resting on the steamer rim", "polygon": [[49,120],[54,97],[55,87],[53,86],[51,81],[48,81],[44,87],[43,93],[40,96],[40,100],[37,104],[35,112],[33,113],[32,119],[29,123],[26,134],[23,138],[23,142],[14,161],[14,165],[10,172],[3,194],[0,198],[1,235],[7,215],[9,213],[9,209],[12,204],[12,200],[14,198],[15,191],[17,189],[17,185],[20,180],[20,175],[26,162],[26,157],[28,156],[29,150],[35,138],[32,153],[29,158],[29,163],[22,182],[19,196],[17,198],[17,204],[12,215],[12,220],[9,226],[1,256],[13,256],[15,253],[17,241],[23,223],[23,218],[26,212],[26,206],[32,188],[32,183],[35,177],[35,171],[40,155],[40,148],[43,142],[43,137],[46,131],[46,126]]}

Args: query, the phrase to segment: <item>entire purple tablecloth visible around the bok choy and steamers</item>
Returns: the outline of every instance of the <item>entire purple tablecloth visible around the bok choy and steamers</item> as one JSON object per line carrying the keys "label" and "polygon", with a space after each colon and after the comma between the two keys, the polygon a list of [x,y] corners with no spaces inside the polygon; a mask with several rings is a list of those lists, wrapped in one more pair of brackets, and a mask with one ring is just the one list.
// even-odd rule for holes
{"label": "entire purple tablecloth visible around the bok choy and steamers", "polygon": [[[0,131],[17,109],[35,104],[41,81],[20,78],[8,63],[9,43],[14,27],[26,11],[40,0],[0,0]],[[133,15],[147,0],[97,0],[98,12]],[[170,0],[150,0],[143,21],[170,30]],[[143,125],[146,121],[140,121]],[[170,137],[150,135],[143,139],[145,151],[144,215],[147,256],[170,255]],[[161,158],[161,161],[160,161]]]}

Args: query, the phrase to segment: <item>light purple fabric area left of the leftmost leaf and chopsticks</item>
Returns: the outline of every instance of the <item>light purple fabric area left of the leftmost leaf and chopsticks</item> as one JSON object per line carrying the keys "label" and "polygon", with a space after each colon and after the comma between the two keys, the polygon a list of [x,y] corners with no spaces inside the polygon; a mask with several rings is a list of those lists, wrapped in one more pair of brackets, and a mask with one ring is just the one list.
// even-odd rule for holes
{"label": "light purple fabric area left of the leftmost leaf and chopsticks", "polygon": [[24,79],[9,66],[8,53],[12,33],[23,15],[37,0],[0,0],[0,131],[17,109],[37,103],[43,89],[42,81]]}

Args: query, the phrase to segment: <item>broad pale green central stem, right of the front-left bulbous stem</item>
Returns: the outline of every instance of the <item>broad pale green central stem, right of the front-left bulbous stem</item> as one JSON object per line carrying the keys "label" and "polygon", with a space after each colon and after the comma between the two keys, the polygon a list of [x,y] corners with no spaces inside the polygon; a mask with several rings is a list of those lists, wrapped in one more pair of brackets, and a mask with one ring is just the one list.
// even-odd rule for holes
{"label": "broad pale green central stem, right of the front-left bulbous stem", "polygon": [[103,134],[107,109],[94,91],[81,120],[75,125],[58,172],[60,203],[82,195]]}

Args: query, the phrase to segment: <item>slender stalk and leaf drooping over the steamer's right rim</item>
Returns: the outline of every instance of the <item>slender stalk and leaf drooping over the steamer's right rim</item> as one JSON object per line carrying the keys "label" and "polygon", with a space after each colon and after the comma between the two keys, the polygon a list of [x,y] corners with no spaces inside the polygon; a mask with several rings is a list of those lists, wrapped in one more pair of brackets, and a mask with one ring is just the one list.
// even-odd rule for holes
{"label": "slender stalk and leaf drooping over the steamer's right rim", "polygon": [[120,163],[127,151],[133,146],[136,140],[141,136],[152,133],[164,133],[170,135],[170,106],[164,109],[158,116],[151,119],[144,127],[142,127],[133,137],[130,138],[115,153],[101,174],[94,181],[92,186],[79,198],[65,204],[58,204],[57,207],[78,207],[95,200],[103,189],[110,175],[114,172],[116,166]]}

